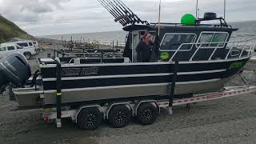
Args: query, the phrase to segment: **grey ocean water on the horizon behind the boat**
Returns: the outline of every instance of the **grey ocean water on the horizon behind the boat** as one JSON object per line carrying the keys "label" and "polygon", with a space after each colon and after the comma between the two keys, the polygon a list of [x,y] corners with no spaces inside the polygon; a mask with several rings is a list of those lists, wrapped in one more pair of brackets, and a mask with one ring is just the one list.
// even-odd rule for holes
{"label": "grey ocean water on the horizon behind the boat", "polygon": [[[231,36],[231,40],[245,40],[248,38],[256,37],[256,21],[247,22],[230,22],[228,23],[234,28],[238,28],[238,31],[234,32]],[[97,32],[97,33],[81,33],[81,34],[58,34],[58,35],[46,35],[40,36],[40,38],[53,38],[58,40],[70,41],[71,37],[73,40],[81,42],[92,42],[98,41],[103,44],[110,44],[111,42],[124,43],[126,31],[110,31],[110,32]]]}

